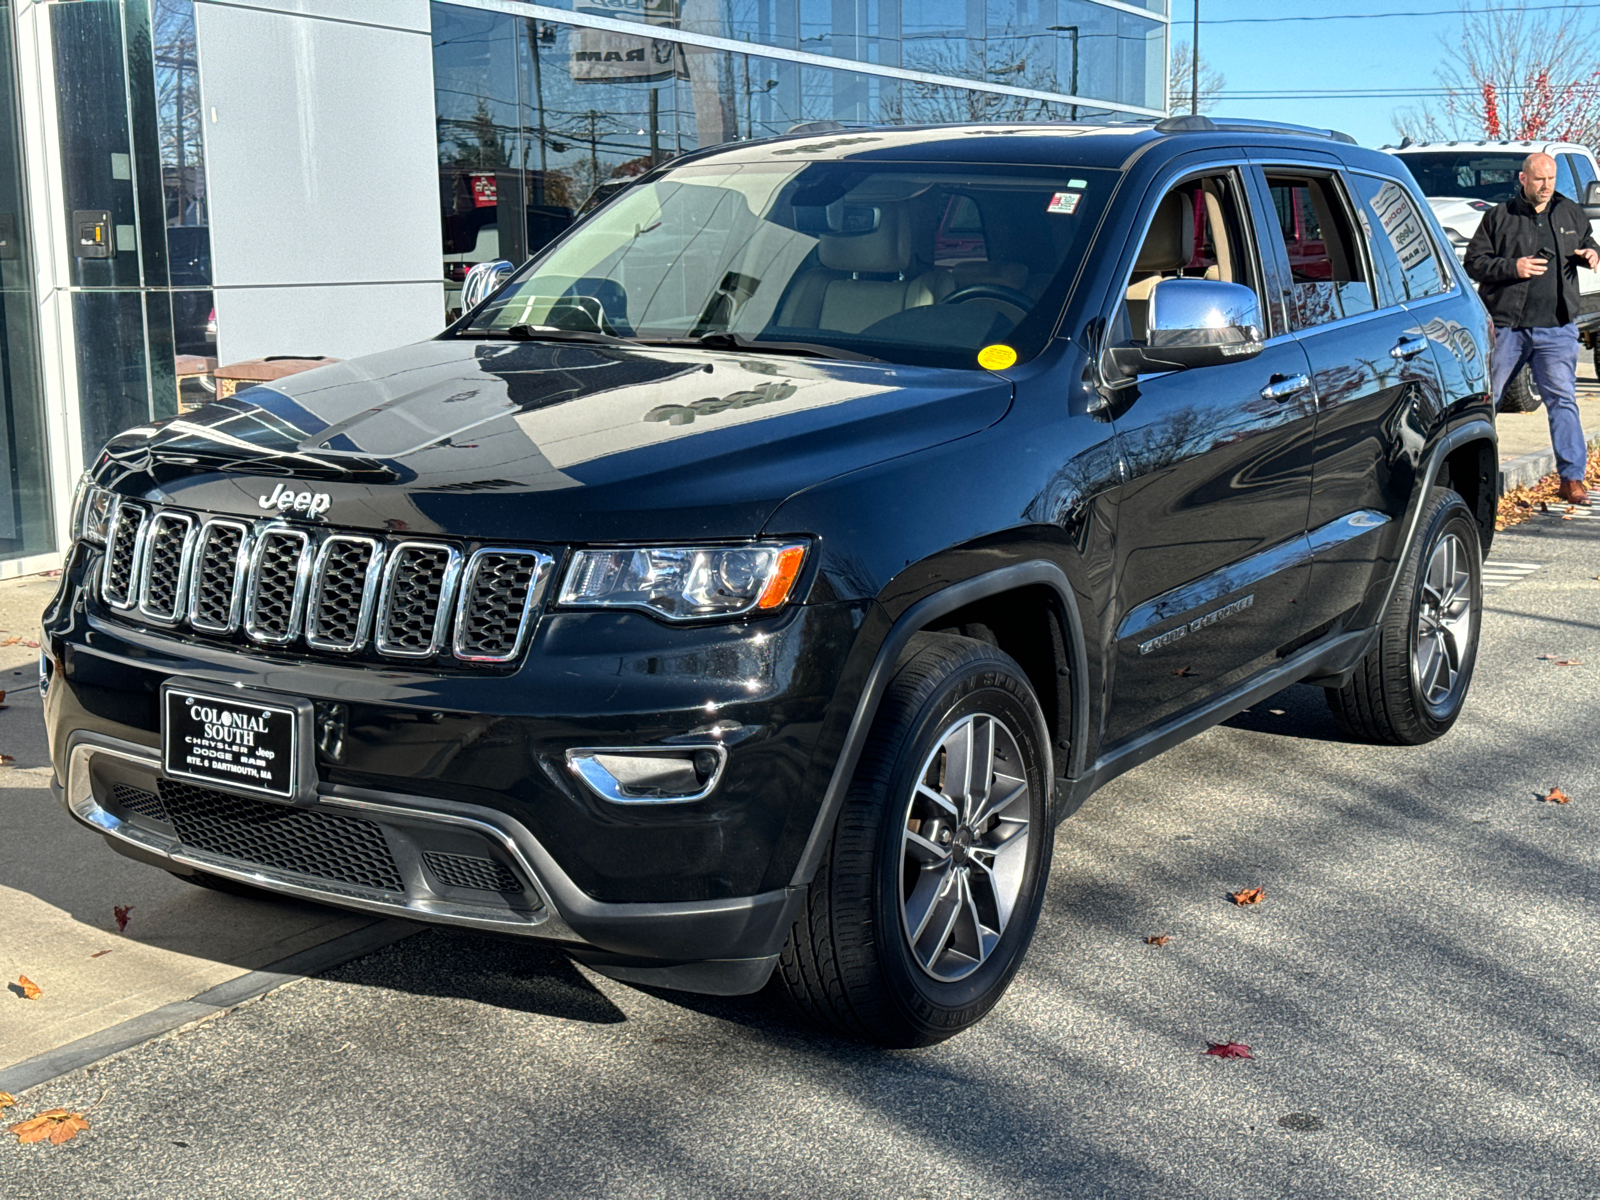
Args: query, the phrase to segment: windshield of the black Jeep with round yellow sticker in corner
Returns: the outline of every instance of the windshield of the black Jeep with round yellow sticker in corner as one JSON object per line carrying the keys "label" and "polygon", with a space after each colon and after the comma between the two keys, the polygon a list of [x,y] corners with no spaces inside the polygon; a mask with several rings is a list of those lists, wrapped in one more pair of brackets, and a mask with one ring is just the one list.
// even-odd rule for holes
{"label": "windshield of the black Jeep with round yellow sticker in corner", "polygon": [[[683,166],[576,226],[456,336],[1005,366],[1050,338],[1115,173]],[[1014,354],[1006,354],[1006,349]]]}

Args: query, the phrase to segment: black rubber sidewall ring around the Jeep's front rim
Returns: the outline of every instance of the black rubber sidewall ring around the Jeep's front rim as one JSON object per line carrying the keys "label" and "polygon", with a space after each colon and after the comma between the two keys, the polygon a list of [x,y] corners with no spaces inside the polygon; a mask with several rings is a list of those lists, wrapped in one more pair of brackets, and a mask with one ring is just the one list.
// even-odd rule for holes
{"label": "black rubber sidewall ring around the Jeep's front rim", "polygon": [[[901,840],[906,806],[939,734],[954,722],[979,712],[1006,725],[1024,758],[1029,782],[1027,870],[1011,920],[989,958],[965,979],[941,982],[922,970],[906,938],[899,886]],[[890,771],[874,850],[872,907],[874,923],[882,931],[878,962],[896,1008],[912,1026],[930,1035],[947,1037],[987,1013],[1011,982],[1032,941],[1054,840],[1050,821],[1051,781],[1043,754],[1048,744],[1043,714],[1022,682],[1021,670],[995,656],[990,662],[966,664],[934,690],[918,710],[915,733]]]}

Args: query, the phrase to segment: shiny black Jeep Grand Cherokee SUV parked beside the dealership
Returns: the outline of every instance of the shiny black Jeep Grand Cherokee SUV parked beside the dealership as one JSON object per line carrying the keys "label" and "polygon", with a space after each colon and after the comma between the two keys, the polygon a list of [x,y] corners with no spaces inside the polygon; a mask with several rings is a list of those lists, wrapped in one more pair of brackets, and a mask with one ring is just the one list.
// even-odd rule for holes
{"label": "shiny black Jeep Grand Cherokee SUV parked beside the dealership", "polygon": [[688,155],[434,341],[112,440],[46,611],[59,795],[195,883],[936,1042],[1120,771],[1296,680],[1451,726],[1488,339],[1341,134]]}

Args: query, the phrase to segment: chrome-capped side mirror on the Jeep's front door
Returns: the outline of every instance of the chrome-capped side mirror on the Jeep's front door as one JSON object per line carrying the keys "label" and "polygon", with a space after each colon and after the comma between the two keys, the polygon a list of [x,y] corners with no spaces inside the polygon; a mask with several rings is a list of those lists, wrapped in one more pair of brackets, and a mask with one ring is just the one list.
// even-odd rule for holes
{"label": "chrome-capped side mirror on the Jeep's front door", "polygon": [[1261,301],[1240,283],[1163,278],[1150,290],[1149,304],[1146,341],[1110,347],[1123,376],[1187,371],[1261,354]]}

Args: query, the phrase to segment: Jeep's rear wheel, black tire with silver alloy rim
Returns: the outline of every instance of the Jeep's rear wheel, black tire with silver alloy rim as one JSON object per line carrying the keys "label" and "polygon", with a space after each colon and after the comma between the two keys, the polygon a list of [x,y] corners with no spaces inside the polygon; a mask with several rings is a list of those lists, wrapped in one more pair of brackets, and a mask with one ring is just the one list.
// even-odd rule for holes
{"label": "Jeep's rear wheel, black tire with silver alloy rim", "polygon": [[1326,688],[1357,741],[1421,746],[1461,715],[1483,621],[1483,554],[1466,501],[1434,488],[1378,642],[1342,688]]}

